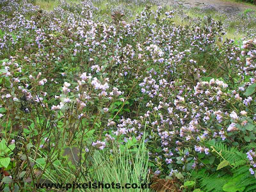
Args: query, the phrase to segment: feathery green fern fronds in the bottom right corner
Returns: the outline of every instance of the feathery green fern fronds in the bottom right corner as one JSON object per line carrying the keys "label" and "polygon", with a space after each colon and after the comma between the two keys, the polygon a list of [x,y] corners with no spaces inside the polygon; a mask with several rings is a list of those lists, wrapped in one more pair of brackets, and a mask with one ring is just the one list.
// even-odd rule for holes
{"label": "feathery green fern fronds in the bottom right corner", "polygon": [[[210,140],[205,144],[206,147],[213,147],[216,150],[216,155],[223,161],[225,159],[231,164],[231,172],[223,172],[223,170],[217,171],[212,175],[198,174],[200,186],[204,191],[218,192],[223,191],[223,186],[228,181],[239,177],[239,181],[236,182],[237,188],[244,188],[247,192],[256,191],[256,179],[250,174],[248,166],[248,159],[244,150],[239,151],[235,147],[227,147],[227,145]],[[249,145],[248,148],[252,148],[254,145]],[[246,149],[246,147],[244,148]],[[221,154],[221,155],[220,155]],[[220,157],[221,156],[221,157]],[[204,175],[204,177],[202,177]]]}

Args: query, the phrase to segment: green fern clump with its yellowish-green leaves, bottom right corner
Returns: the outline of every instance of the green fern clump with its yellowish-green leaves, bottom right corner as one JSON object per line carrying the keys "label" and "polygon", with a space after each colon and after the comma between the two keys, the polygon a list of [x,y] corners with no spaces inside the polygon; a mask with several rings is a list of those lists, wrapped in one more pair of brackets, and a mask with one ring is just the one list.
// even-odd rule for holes
{"label": "green fern clump with its yellowish-green leaves, bottom right corner", "polygon": [[[216,154],[216,157],[221,161],[214,173],[201,170],[195,174],[195,178],[199,179],[202,189],[212,192],[252,191],[255,189],[256,180],[248,171],[248,159],[243,151],[234,147],[227,147],[227,145],[215,140],[208,141],[205,145],[211,147],[212,154]],[[229,171],[225,171],[227,167]]]}

